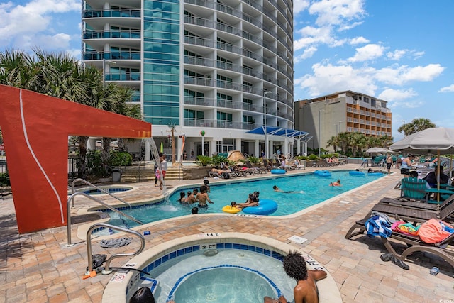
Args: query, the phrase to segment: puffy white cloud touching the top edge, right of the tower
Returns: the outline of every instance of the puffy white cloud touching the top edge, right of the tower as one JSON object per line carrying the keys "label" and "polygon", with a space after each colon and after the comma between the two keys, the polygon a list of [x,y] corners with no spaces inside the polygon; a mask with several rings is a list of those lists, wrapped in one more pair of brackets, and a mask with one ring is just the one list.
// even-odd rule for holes
{"label": "puffy white cloud touching the top edge, right of the tower", "polygon": [[319,26],[336,24],[345,27],[351,21],[364,18],[364,4],[364,0],[321,0],[309,7],[309,13],[317,15],[316,24]]}

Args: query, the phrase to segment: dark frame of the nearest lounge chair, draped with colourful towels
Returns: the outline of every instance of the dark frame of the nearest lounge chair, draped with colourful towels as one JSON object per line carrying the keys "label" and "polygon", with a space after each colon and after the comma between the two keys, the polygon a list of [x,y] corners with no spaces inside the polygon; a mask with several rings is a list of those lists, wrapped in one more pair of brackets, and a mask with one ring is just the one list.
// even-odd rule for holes
{"label": "dark frame of the nearest lounge chair, draped with colourful towels", "polygon": [[[453,206],[453,204],[451,204],[451,206]],[[358,236],[364,233],[364,231],[366,230],[365,223],[368,219],[369,218],[364,218],[362,220],[356,221],[345,235],[345,238],[350,239],[353,236]],[[355,231],[355,229],[358,229],[358,231]],[[399,253],[394,250],[392,242],[389,241],[389,238],[380,236],[380,239],[382,240],[384,247],[387,248],[388,252],[392,253],[395,258],[401,261],[404,261],[408,255],[411,255],[411,253],[421,251],[423,253],[433,253],[434,255],[438,255],[438,257],[443,258],[454,268],[454,250],[450,248],[442,248],[447,246],[449,243],[453,243],[454,233],[451,233],[451,235],[448,236],[448,238],[445,238],[443,241],[434,244],[424,243],[423,241],[421,241],[421,238],[419,238],[419,236],[409,236],[394,231],[391,233],[390,238],[392,238],[394,241],[402,242],[407,246],[402,254],[399,255]]]}

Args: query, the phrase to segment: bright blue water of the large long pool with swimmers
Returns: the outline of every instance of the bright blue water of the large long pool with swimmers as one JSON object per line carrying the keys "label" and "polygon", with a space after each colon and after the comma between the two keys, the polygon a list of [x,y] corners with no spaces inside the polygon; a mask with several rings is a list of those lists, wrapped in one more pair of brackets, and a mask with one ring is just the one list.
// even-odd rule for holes
{"label": "bright blue water of the large long pool with swimmers", "polygon": [[[199,214],[222,213],[223,206],[231,204],[232,201],[243,203],[248,199],[248,194],[258,191],[260,199],[272,199],[277,202],[278,207],[275,213],[270,216],[284,216],[294,214],[320,202],[335,197],[343,192],[348,192],[373,180],[377,180],[380,175],[349,175],[348,171],[331,172],[331,177],[321,177],[314,174],[292,175],[284,177],[272,177],[266,180],[245,180],[245,182],[228,182],[227,184],[211,185],[210,199],[214,204],[209,204],[206,209],[199,209]],[[336,180],[341,180],[341,187],[331,187],[329,184]],[[275,192],[272,187],[276,185],[284,191],[294,191],[292,193]],[[159,221],[162,219],[174,218],[191,214],[192,207],[196,204],[180,204],[180,192],[188,192],[196,187],[184,187],[170,195],[168,201],[139,206],[133,209],[122,209],[122,211],[133,216],[144,223]],[[225,213],[224,213],[225,214]],[[241,214],[241,212],[239,213]],[[109,224],[131,228],[137,226],[133,221],[125,219],[123,216],[109,211],[111,221]]]}

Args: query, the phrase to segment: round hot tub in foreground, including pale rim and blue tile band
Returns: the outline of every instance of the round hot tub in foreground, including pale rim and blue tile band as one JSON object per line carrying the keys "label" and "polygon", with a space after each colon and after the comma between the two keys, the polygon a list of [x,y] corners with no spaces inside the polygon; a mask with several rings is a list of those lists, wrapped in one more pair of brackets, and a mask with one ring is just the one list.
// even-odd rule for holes
{"label": "round hot tub in foreground, including pale rim and blue tile band", "polygon": [[[215,249],[216,255],[204,255]],[[262,302],[264,296],[280,294],[292,302],[295,281],[285,274],[282,258],[296,249],[272,238],[246,233],[185,236],[145,250],[123,265],[152,276],[137,271],[116,272],[106,285],[102,302],[127,302],[143,286],[153,287],[156,302]],[[300,253],[309,269],[325,270],[311,256],[301,250]],[[329,272],[317,286],[319,302],[342,302]]]}

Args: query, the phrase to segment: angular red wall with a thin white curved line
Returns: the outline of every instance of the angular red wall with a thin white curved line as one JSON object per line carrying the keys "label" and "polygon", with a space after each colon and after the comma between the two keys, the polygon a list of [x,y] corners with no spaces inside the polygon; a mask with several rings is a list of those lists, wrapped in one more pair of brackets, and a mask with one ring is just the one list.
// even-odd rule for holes
{"label": "angular red wall with a thin white curved line", "polygon": [[0,85],[0,127],[19,233],[67,223],[68,136],[149,138],[151,124]]}

